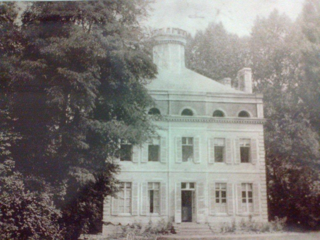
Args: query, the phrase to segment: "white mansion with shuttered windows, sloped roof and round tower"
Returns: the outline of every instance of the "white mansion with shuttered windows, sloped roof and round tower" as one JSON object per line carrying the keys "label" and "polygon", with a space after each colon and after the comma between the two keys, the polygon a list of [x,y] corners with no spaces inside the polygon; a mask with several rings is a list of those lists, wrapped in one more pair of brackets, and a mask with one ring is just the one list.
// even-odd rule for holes
{"label": "white mansion with shuttered windows, sloped roof and round tower", "polygon": [[156,103],[149,113],[162,116],[159,138],[121,145],[121,191],[105,199],[104,223],[268,221],[265,120],[251,69],[238,72],[238,89],[197,74],[185,68],[185,36],[155,32],[158,75],[146,87]]}

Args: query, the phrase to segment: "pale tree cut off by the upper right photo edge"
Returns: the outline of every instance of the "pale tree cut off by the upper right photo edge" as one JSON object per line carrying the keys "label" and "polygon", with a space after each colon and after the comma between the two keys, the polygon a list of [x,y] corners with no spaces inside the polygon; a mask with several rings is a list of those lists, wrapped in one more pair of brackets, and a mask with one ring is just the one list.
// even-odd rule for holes
{"label": "pale tree cut off by the upper right photo edge", "polygon": [[299,73],[297,77],[301,104],[310,124],[320,134],[320,1],[307,0],[298,20],[301,29]]}

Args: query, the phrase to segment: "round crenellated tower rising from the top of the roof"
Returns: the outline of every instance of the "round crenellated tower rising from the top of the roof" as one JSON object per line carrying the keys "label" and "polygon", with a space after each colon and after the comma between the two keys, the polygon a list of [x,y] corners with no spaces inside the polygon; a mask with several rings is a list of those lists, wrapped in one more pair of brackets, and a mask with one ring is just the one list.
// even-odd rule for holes
{"label": "round crenellated tower rising from the top of the roof", "polygon": [[185,68],[184,46],[187,32],[179,28],[161,28],[153,32],[153,62],[158,68],[179,71]]}

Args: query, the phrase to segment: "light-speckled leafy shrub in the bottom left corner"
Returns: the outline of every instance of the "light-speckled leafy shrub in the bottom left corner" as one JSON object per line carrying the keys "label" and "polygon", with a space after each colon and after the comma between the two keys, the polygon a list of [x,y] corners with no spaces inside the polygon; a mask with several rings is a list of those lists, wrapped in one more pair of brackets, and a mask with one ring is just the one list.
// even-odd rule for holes
{"label": "light-speckled leafy shrub in the bottom left corner", "polygon": [[0,163],[0,239],[62,239],[61,214],[52,196],[28,191],[21,174],[12,168],[13,163]]}

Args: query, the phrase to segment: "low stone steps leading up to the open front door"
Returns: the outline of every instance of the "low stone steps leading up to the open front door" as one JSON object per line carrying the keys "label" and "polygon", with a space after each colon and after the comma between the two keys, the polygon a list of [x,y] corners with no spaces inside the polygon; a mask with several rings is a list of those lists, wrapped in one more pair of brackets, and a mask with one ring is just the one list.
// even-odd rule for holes
{"label": "low stone steps leading up to the open front door", "polygon": [[196,235],[211,235],[212,230],[206,223],[196,223],[196,222],[182,222],[180,224],[173,224],[177,235],[180,236],[196,236]]}

